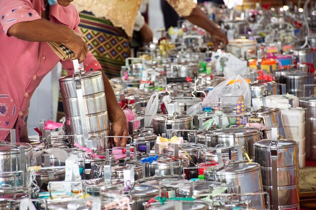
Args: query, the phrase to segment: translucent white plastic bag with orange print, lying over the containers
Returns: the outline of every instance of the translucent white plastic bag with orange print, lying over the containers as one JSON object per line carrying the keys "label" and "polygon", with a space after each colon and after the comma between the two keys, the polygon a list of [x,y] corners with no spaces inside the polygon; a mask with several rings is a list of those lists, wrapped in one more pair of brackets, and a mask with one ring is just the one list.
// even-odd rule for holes
{"label": "translucent white plastic bag with orange print, lying over the containers", "polygon": [[[225,98],[221,98],[224,96]],[[209,91],[204,102],[221,101],[223,102],[223,105],[235,105],[239,96],[244,96],[245,106],[250,107],[250,86],[246,80],[238,75],[229,80],[221,82],[212,91]]]}

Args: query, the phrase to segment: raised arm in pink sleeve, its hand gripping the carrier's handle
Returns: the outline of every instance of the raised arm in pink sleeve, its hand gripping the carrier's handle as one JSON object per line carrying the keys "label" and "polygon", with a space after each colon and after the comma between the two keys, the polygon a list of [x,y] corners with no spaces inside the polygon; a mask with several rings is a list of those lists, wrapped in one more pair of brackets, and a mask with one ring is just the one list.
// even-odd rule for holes
{"label": "raised arm in pink sleeve, its hand gripping the carrier's handle", "polygon": [[85,58],[87,46],[71,26],[42,19],[29,0],[0,1],[0,16],[3,32],[7,36],[31,42],[63,43],[74,51],[74,58],[80,61]]}

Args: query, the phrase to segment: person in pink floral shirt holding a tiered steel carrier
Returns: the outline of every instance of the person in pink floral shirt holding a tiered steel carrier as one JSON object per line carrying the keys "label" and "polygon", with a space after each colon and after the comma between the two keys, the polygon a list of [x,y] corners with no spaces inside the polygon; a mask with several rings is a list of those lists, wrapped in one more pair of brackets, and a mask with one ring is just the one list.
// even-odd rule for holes
{"label": "person in pink floral shirt holding a tiered steel carrier", "polygon": [[[17,141],[28,142],[27,116],[30,99],[44,76],[60,58],[47,42],[61,42],[83,62],[85,71],[101,66],[89,52],[80,33],[78,12],[73,0],[0,0],[0,128],[15,128]],[[69,74],[71,60],[61,61]],[[102,73],[103,74],[103,73]],[[117,103],[108,78],[104,89],[112,122],[112,134],[127,136],[125,115]],[[0,141],[9,131],[0,130]],[[116,146],[125,146],[126,138],[115,138]]]}

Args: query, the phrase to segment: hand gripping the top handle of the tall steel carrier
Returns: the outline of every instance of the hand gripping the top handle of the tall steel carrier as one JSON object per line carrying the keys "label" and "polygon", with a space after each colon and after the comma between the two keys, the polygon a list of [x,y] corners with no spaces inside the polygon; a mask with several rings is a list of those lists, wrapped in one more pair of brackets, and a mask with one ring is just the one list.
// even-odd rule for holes
{"label": "hand gripping the top handle of the tall steel carrier", "polygon": [[77,32],[71,30],[69,40],[62,42],[62,44],[74,52],[75,56],[73,59],[79,59],[79,63],[86,59],[86,53],[89,51],[89,48],[82,36]]}

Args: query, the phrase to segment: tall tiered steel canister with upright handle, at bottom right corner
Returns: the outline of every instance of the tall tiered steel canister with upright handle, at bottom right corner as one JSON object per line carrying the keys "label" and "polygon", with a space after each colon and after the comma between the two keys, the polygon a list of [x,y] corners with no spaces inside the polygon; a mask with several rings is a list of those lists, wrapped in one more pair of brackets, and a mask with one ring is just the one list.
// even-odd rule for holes
{"label": "tall tiered steel canister with upright handle, at bottom right corner", "polygon": [[276,133],[273,136],[254,144],[254,161],[261,166],[264,190],[270,194],[272,209],[298,208],[298,145],[278,141]]}

